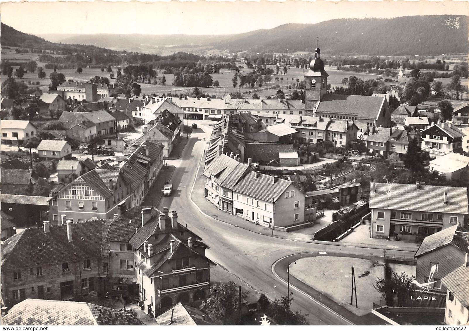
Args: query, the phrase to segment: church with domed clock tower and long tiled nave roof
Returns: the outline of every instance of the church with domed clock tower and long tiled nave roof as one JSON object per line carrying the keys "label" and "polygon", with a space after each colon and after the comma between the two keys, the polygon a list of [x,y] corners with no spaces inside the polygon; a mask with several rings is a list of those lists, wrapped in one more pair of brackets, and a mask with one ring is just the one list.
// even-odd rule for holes
{"label": "church with domed clock tower and long tiled nave roof", "polygon": [[328,76],[317,47],[305,75],[305,115],[354,121],[358,136],[372,132],[371,127],[391,127],[391,113],[385,97],[327,94]]}

